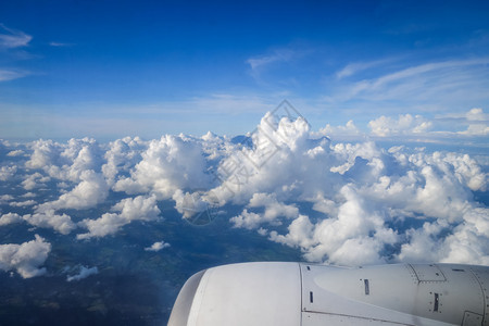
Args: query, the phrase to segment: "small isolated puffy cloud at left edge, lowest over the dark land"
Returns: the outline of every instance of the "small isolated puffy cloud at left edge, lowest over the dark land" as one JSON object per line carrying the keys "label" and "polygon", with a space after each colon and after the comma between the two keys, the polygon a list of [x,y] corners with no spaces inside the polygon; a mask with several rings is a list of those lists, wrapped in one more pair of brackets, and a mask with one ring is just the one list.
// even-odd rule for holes
{"label": "small isolated puffy cloud at left edge, lowest over the dark land", "polygon": [[0,244],[0,269],[16,271],[23,278],[46,274],[46,268],[39,268],[48,259],[51,243],[38,235],[35,239],[22,244]]}

